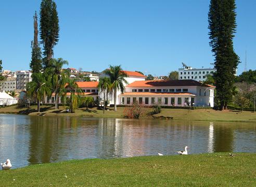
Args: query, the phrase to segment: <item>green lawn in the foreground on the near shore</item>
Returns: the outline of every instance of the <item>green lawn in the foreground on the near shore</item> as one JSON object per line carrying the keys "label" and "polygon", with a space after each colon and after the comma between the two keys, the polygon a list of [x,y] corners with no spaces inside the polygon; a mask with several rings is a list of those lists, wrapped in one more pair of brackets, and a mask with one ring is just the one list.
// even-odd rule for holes
{"label": "green lawn in the foreground on the near shore", "polygon": [[256,186],[256,154],[86,159],[0,171],[0,186]]}

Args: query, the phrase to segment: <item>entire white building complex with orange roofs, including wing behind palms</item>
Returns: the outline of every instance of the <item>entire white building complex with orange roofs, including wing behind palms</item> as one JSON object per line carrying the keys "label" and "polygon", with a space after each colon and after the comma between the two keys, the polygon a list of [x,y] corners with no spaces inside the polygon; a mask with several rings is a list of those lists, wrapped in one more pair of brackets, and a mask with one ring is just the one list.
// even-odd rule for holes
{"label": "entire white building complex with orange roofs, including wing behind palms", "polygon": [[[162,106],[211,106],[214,105],[214,88],[212,85],[203,84],[195,80],[150,80],[145,81],[145,76],[136,71],[123,71],[127,74],[125,90],[117,92],[117,105],[132,105],[135,102],[144,105]],[[106,76],[104,73],[100,77]],[[84,97],[98,96],[103,99],[103,92],[98,90],[98,82],[76,82],[83,90]],[[67,94],[70,97],[70,93]],[[108,98],[109,104],[114,104],[114,94]],[[54,104],[54,95],[45,98],[45,103]],[[61,100],[59,98],[59,103]]]}

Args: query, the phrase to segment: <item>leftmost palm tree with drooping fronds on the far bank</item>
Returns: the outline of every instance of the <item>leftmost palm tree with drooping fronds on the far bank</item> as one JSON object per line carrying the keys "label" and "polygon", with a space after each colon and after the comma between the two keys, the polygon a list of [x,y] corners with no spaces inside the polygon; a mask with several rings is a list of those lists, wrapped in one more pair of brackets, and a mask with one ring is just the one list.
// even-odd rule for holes
{"label": "leftmost palm tree with drooping fronds on the far bank", "polygon": [[40,112],[41,100],[46,94],[50,94],[50,87],[45,76],[41,73],[33,73],[32,80],[27,85],[27,94],[30,98],[36,98],[37,111]]}

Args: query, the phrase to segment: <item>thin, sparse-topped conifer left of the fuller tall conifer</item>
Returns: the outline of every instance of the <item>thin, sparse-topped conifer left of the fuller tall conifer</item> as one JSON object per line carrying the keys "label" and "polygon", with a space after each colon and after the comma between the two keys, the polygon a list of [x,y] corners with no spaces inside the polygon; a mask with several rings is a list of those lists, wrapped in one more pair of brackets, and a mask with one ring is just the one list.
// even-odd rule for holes
{"label": "thin, sparse-topped conifer left of the fuller tall conifer", "polygon": [[32,47],[32,57],[30,62],[30,69],[32,70],[32,73],[40,73],[40,71],[43,69],[42,66],[42,52],[41,48],[39,47],[38,40],[37,40],[37,16],[35,12],[34,16],[34,41],[31,44]]}

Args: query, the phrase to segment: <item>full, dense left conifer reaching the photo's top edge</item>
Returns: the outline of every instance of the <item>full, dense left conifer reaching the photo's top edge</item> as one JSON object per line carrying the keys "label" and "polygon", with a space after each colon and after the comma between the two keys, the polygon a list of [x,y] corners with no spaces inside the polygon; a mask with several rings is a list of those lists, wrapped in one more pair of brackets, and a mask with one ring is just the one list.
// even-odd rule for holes
{"label": "full, dense left conifer reaching the photo's top edge", "polygon": [[59,41],[59,18],[53,0],[42,0],[40,7],[40,38],[44,49],[44,68],[53,58],[53,48]]}

